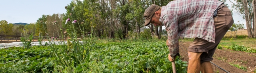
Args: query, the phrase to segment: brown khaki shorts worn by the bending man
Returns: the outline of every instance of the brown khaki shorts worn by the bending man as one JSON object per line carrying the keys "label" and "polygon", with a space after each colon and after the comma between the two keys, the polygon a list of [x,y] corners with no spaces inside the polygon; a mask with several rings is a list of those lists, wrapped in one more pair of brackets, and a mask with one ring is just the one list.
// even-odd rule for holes
{"label": "brown khaki shorts worn by the bending man", "polygon": [[217,16],[214,17],[215,25],[215,43],[211,43],[201,38],[195,38],[189,45],[188,51],[190,52],[203,52],[200,56],[201,63],[211,61],[212,56],[216,50],[216,47],[220,43],[220,40],[230,29],[234,23],[232,13],[228,7],[224,6],[217,12]]}

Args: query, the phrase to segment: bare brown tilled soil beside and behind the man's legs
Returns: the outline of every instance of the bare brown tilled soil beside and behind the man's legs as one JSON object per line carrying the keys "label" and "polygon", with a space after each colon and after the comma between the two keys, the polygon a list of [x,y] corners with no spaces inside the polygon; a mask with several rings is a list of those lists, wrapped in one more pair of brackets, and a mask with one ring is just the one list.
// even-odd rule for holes
{"label": "bare brown tilled soil beside and behind the man's legs", "polygon": [[[182,61],[188,61],[187,49],[191,41],[180,43],[180,55]],[[230,73],[253,73],[256,71],[256,53],[246,53],[243,51],[232,51],[230,49],[216,49],[212,62]],[[239,69],[230,64],[246,67]],[[214,73],[226,73],[222,69],[212,64]]]}

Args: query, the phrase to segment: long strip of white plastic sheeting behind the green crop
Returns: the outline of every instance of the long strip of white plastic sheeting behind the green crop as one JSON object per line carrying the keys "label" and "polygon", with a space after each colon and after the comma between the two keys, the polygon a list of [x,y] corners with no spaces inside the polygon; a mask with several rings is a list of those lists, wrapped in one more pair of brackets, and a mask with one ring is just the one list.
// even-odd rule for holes
{"label": "long strip of white plastic sheeting behind the green crop", "polygon": [[[56,44],[56,45],[67,45],[67,41],[50,41],[52,44]],[[50,45],[50,42],[49,41],[42,41],[42,45]],[[70,41],[72,42],[72,41]],[[78,41],[79,43],[83,44],[83,41]],[[47,43],[47,44],[46,44]],[[35,45],[39,45],[39,42],[32,42],[31,43],[32,46],[35,46]],[[12,42],[12,43],[0,43],[0,49],[2,48],[8,48],[8,47],[21,47],[23,46],[24,44],[22,44],[22,42]]]}

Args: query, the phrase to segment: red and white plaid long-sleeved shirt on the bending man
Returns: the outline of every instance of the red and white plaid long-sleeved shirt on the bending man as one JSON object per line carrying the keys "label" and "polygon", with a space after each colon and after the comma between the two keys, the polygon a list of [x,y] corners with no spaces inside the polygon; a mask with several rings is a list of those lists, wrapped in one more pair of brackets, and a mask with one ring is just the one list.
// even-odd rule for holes
{"label": "red and white plaid long-sleeved shirt on the bending man", "polygon": [[165,26],[172,58],[179,53],[178,36],[202,38],[215,43],[213,13],[218,0],[174,0],[162,6],[160,22]]}

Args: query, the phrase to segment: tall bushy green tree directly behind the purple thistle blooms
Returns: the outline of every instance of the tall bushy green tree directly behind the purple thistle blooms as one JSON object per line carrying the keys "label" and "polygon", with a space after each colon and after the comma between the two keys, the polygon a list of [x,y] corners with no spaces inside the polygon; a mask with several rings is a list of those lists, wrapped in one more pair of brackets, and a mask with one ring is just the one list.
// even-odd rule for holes
{"label": "tall bushy green tree directly behind the purple thistle blooms", "polygon": [[[94,2],[96,2],[96,0],[73,0],[65,7],[67,13],[64,14],[62,26],[66,29],[70,29],[67,30],[68,32],[75,33],[77,35],[90,32],[91,28],[97,26],[97,24],[93,22],[95,21],[94,14],[97,14],[97,12],[95,12],[97,3]],[[65,24],[68,18],[70,18],[71,22],[77,20],[77,23],[68,22]]]}

